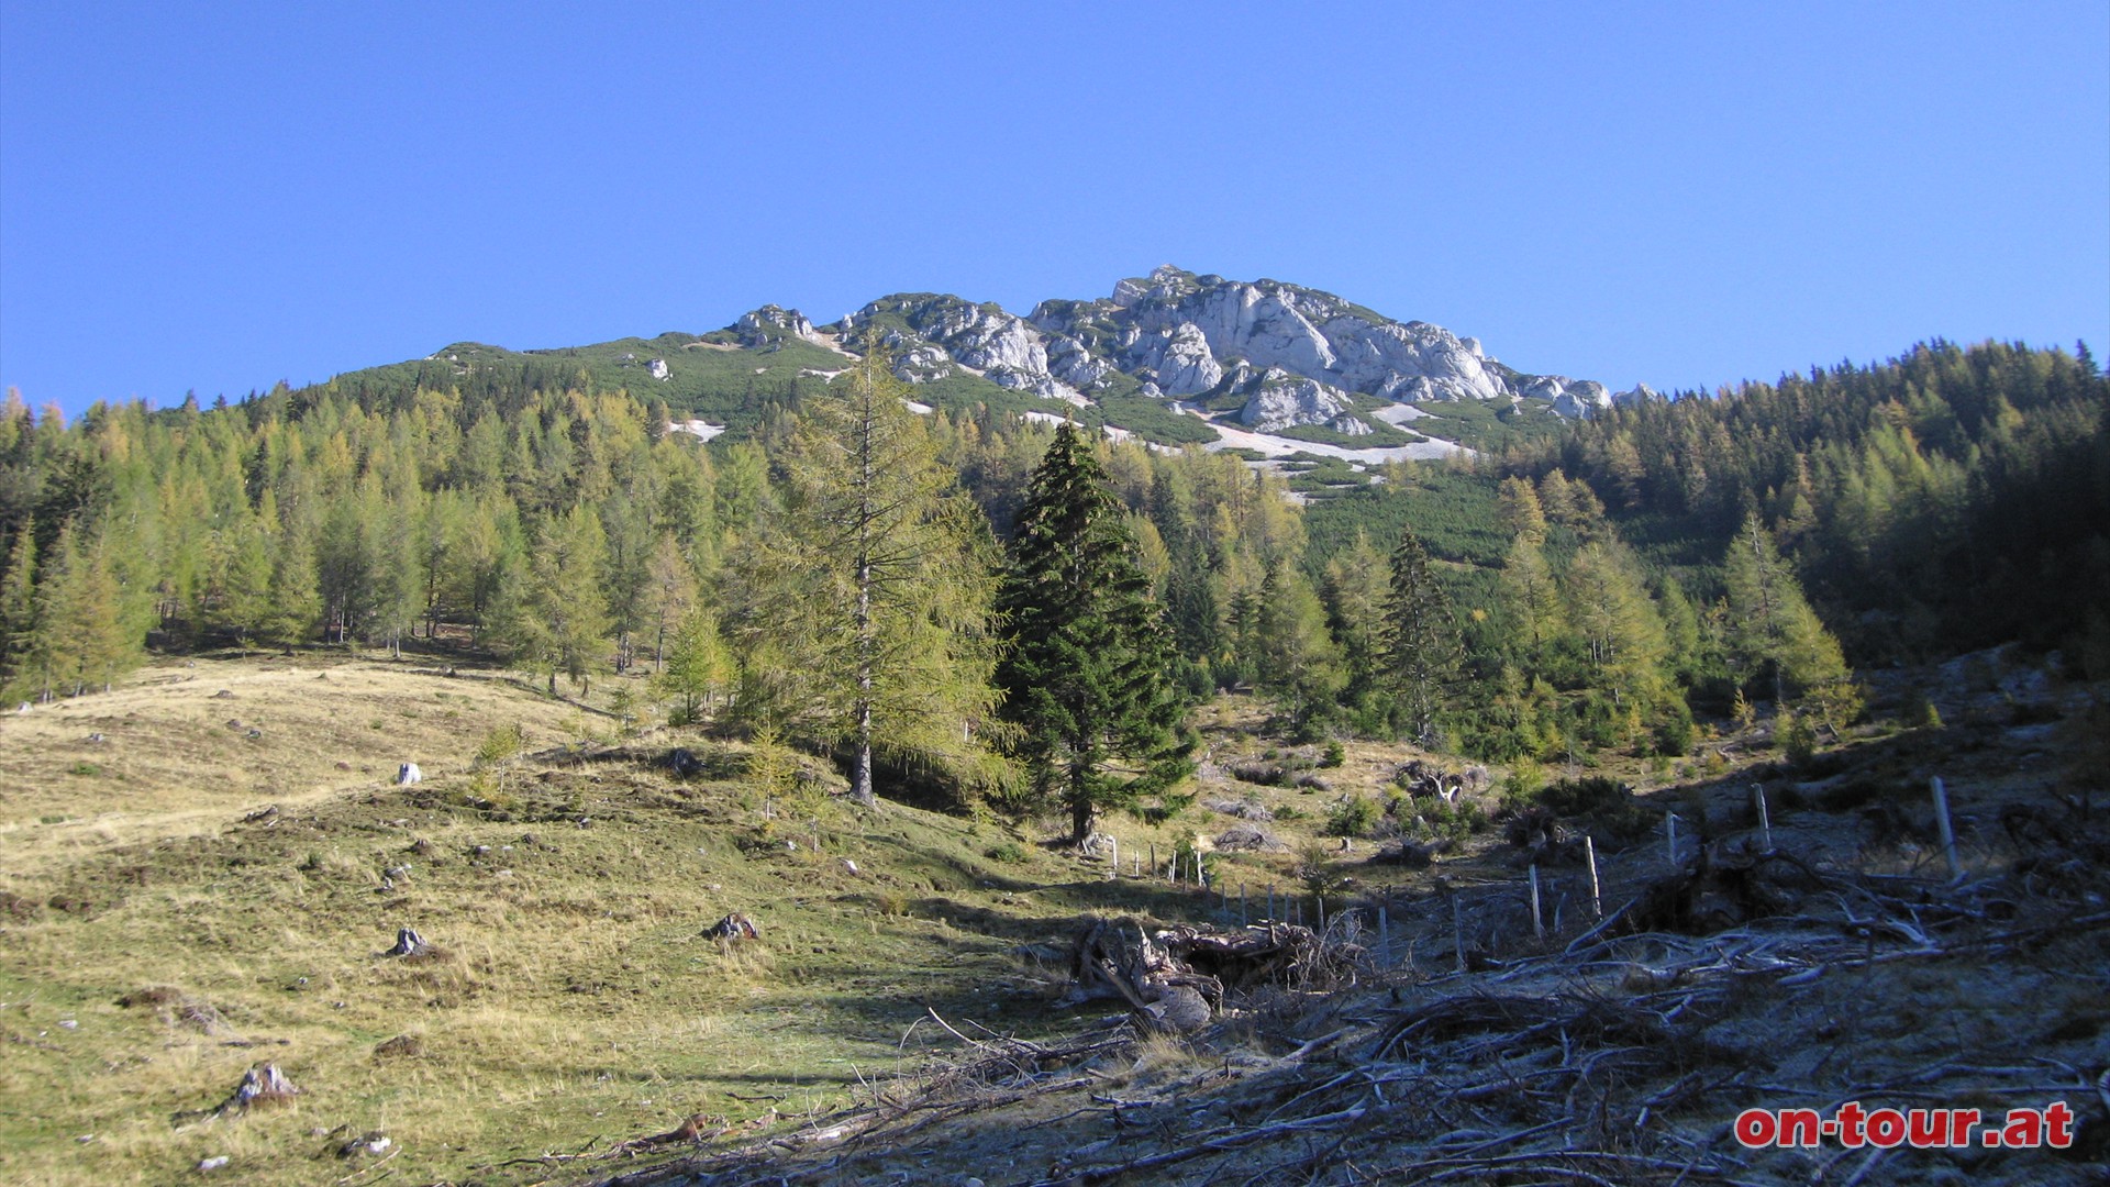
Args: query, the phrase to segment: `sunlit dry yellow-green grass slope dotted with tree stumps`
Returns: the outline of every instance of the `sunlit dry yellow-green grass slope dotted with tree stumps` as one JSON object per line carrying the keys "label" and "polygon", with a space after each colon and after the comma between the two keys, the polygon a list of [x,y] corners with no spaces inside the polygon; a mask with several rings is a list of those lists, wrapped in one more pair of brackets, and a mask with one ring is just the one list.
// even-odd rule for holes
{"label": "sunlit dry yellow-green grass slope dotted with tree stumps", "polygon": [[[544,756],[487,794],[468,756],[502,722]],[[1013,836],[895,805],[764,805],[730,781],[741,748],[701,737],[551,750],[578,731],[504,678],[283,659],[0,722],[0,1181],[169,1183],[226,1155],[213,1181],[335,1183],[376,1162],[335,1153],[371,1130],[403,1181],[540,1181],[546,1151],[694,1111],[838,1105],[924,1003],[1068,1020],[1006,957],[1106,893],[1059,889],[1068,860],[994,862]],[[673,779],[675,741],[720,779]],[[390,786],[399,760],[426,781]],[[728,910],[764,940],[703,938]],[[384,957],[401,925],[441,955]],[[160,986],[215,1022],[141,1003]],[[198,1115],[264,1060],[295,1100]]]}

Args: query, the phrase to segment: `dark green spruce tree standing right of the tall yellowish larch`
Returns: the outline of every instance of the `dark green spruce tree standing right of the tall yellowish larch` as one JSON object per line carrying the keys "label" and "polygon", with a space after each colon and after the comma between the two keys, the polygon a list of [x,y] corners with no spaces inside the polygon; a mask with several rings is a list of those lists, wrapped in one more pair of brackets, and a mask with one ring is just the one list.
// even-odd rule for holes
{"label": "dark green spruce tree standing right of the tall yellowish larch", "polygon": [[1004,718],[1036,796],[1070,811],[1076,841],[1099,811],[1192,771],[1163,613],[1106,469],[1068,422],[1025,488],[998,610]]}

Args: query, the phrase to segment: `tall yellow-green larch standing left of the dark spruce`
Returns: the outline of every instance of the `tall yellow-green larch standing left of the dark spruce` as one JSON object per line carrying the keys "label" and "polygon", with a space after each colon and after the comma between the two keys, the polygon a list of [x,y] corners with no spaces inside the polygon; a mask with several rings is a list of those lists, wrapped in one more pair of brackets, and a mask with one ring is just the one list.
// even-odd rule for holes
{"label": "tall yellow-green larch standing left of the dark spruce", "polygon": [[781,467],[745,632],[789,651],[798,712],[850,750],[852,798],[876,803],[874,750],[983,777],[994,543],[878,340],[804,401]]}

